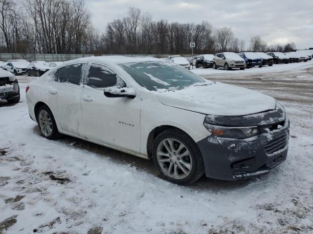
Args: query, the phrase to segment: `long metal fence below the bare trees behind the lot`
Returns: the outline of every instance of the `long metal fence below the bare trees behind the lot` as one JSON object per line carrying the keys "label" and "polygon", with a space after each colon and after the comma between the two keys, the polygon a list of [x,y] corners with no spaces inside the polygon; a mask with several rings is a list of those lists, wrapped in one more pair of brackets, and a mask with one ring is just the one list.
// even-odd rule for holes
{"label": "long metal fence below the bare trees behind the lot", "polygon": [[[67,61],[72,59],[95,56],[92,54],[0,54],[0,61],[10,59],[26,59],[28,61]],[[99,56],[99,55],[97,55]],[[108,56],[108,55],[103,55]],[[166,58],[168,55],[124,55],[124,56],[149,56],[155,58]],[[181,55],[183,57],[191,57],[191,55]]]}

